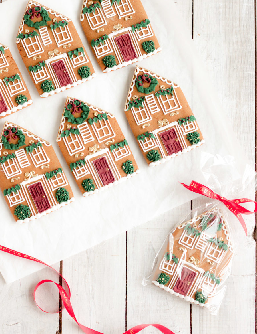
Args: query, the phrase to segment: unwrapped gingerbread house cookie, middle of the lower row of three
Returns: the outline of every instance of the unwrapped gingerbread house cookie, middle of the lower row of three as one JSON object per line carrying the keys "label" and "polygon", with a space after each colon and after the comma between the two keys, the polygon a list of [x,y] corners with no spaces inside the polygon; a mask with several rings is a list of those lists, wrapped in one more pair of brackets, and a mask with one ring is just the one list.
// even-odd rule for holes
{"label": "unwrapped gingerbread house cookie, middle of the lower row of three", "polygon": [[139,172],[115,117],[86,102],[67,97],[57,142],[83,196]]}

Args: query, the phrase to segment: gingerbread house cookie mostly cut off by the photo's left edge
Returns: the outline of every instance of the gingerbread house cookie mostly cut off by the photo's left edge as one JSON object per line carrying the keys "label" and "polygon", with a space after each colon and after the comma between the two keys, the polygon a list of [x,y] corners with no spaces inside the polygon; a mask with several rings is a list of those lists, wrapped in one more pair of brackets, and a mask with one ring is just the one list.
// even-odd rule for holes
{"label": "gingerbread house cookie mostly cut off by the photo's left edge", "polygon": [[8,46],[0,43],[0,118],[32,104],[28,88]]}

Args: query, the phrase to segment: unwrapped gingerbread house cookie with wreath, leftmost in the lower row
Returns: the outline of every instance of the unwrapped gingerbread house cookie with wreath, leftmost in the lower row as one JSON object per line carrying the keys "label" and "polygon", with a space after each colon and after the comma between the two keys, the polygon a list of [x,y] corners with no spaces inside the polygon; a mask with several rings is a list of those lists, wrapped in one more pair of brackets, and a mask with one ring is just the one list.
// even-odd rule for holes
{"label": "unwrapped gingerbread house cookie with wreath, leftmost in the lower row", "polygon": [[52,145],[8,122],[0,139],[0,188],[17,223],[74,201]]}

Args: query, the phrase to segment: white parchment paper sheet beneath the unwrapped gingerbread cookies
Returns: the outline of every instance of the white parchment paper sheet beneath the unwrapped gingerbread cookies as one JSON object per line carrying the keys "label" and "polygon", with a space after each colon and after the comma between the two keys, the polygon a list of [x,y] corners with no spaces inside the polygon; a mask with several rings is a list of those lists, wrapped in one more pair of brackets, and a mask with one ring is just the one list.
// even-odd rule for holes
{"label": "white parchment paper sheet beneath the unwrapped gingerbread cookies", "polygon": [[[44,5],[73,20],[97,77],[66,92],[41,99],[15,43],[27,0],[8,0],[0,5],[0,42],[9,46],[27,83],[33,105],[2,119],[0,128],[8,120],[50,141],[71,183],[76,201],[45,217],[20,225],[14,223],[1,195],[1,245],[51,265],[194,198],[196,195],[184,189],[178,181],[190,182],[193,178],[204,182],[200,172],[202,151],[234,155],[239,169],[243,169],[247,159],[226,121],[225,111],[218,101],[218,92],[210,83],[173,1],[163,0],[161,5],[157,0],[142,2],[163,50],[137,64],[180,85],[206,143],[154,168],[147,165],[123,112],[135,65],[107,74],[101,72],[80,26],[82,0],[44,0]],[[140,174],[104,192],[82,197],[55,142],[67,95],[116,116],[136,158]],[[9,254],[0,254],[0,271],[7,283],[42,267]]]}

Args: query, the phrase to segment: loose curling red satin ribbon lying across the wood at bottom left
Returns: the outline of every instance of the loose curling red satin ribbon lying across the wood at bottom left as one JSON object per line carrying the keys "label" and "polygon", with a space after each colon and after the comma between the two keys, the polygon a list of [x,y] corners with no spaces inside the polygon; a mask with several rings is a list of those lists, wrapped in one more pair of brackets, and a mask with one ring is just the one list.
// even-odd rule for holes
{"label": "loose curling red satin ribbon lying across the wood at bottom left", "polygon": [[[51,266],[47,265],[46,263],[44,263],[44,262],[42,262],[42,261],[40,261],[40,260],[38,260],[38,259],[36,259],[36,258],[33,258],[32,256],[28,256],[28,255],[26,255],[26,254],[16,252],[16,251],[14,251],[13,249],[10,249],[10,248],[8,248],[8,247],[4,247],[4,246],[1,246],[1,245],[0,245],[0,251],[2,251],[2,252],[6,252],[6,253],[9,253],[9,254],[12,254],[12,255],[15,255],[15,256],[17,256],[17,257],[19,257],[19,258],[24,258],[24,259],[31,260],[31,261],[35,261],[35,262],[40,262],[40,263],[42,263],[43,265],[45,265],[45,266],[47,266],[47,267],[53,269],[59,276],[62,277],[62,275],[60,275],[60,274],[58,273],[58,271],[56,271],[54,268],[52,268]],[[91,328],[88,328],[88,327],[86,327],[86,326],[80,324],[80,323],[77,321],[77,319],[76,319],[76,317],[75,317],[75,314],[74,314],[74,311],[73,311],[72,306],[71,306],[71,302],[70,302],[70,294],[71,294],[71,293],[70,293],[69,285],[68,285],[68,283],[65,281],[65,279],[64,279],[63,277],[62,277],[62,279],[63,279],[63,281],[66,283],[66,285],[67,285],[67,287],[68,287],[68,293],[65,291],[65,289],[64,289],[61,285],[59,285],[58,283],[56,283],[56,282],[54,282],[54,281],[51,281],[51,280],[43,280],[43,281],[39,282],[39,283],[36,285],[36,287],[35,287],[35,289],[34,289],[33,297],[34,297],[34,301],[35,301],[37,307],[38,307],[40,310],[42,310],[43,312],[45,312],[45,313],[59,313],[59,312],[61,312],[61,311],[59,311],[59,312],[47,312],[47,311],[41,309],[41,308],[38,306],[38,304],[37,304],[37,302],[36,302],[36,298],[35,298],[35,294],[36,294],[37,288],[38,288],[40,285],[42,285],[42,284],[44,284],[44,283],[48,283],[48,282],[54,283],[54,284],[57,286],[58,290],[59,290],[59,294],[60,294],[61,299],[62,299],[62,301],[63,301],[63,305],[64,305],[64,307],[66,308],[68,314],[69,314],[69,315],[72,317],[72,319],[79,325],[79,327],[82,329],[82,331],[83,331],[84,333],[86,333],[86,334],[103,334],[103,333],[101,333],[101,332],[98,332],[98,331],[95,331],[95,330],[93,330],[93,329],[91,329]],[[164,326],[159,325],[159,324],[144,324],[144,325],[138,325],[138,326],[132,327],[131,329],[129,329],[129,330],[127,330],[126,332],[124,332],[123,334],[136,334],[136,333],[140,332],[142,329],[144,329],[144,328],[146,328],[146,327],[148,327],[148,326],[153,326],[153,327],[159,329],[163,334],[174,334],[174,333],[173,333],[171,330],[169,330],[167,327],[164,327]]]}

